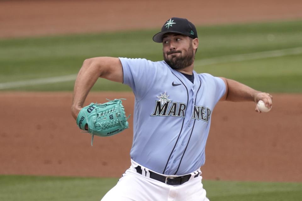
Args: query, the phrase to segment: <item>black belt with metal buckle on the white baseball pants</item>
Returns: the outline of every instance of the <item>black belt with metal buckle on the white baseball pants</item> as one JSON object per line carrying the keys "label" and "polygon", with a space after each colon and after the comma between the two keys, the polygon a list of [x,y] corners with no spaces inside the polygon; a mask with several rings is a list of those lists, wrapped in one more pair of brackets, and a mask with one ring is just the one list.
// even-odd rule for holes
{"label": "black belt with metal buckle on the white baseball pants", "polygon": [[[142,171],[142,167],[141,166],[137,166],[135,167],[137,173],[143,175],[143,171]],[[155,172],[152,172],[149,170],[149,173],[150,173],[150,178],[151,179],[155,179],[159,182],[163,182],[165,184],[169,184],[169,185],[180,185],[180,184],[183,184],[187,181],[189,181],[190,177],[191,177],[191,174],[188,174],[188,175],[184,175],[184,176],[180,176],[180,177],[165,177],[163,175],[160,175],[160,174],[157,174]],[[147,175],[147,172],[145,171],[144,172],[145,175],[143,176],[146,176]],[[200,173],[197,173],[195,177],[198,177]]]}

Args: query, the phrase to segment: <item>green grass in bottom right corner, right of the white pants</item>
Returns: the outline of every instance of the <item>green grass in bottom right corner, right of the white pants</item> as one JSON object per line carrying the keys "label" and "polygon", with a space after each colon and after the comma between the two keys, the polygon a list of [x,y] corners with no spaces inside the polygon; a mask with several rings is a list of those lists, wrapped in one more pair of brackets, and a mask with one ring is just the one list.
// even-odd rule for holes
{"label": "green grass in bottom right corner, right of the white pants", "polygon": [[302,183],[203,181],[210,201],[302,200]]}

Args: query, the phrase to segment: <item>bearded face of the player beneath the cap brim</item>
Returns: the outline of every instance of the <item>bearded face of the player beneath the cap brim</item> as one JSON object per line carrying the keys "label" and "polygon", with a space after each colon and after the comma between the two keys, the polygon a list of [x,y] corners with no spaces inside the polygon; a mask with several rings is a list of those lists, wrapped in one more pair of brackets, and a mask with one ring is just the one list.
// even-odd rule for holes
{"label": "bearded face of the player beneath the cap brim", "polygon": [[166,33],[163,35],[163,55],[165,62],[174,69],[182,69],[194,62],[192,39],[189,36]]}

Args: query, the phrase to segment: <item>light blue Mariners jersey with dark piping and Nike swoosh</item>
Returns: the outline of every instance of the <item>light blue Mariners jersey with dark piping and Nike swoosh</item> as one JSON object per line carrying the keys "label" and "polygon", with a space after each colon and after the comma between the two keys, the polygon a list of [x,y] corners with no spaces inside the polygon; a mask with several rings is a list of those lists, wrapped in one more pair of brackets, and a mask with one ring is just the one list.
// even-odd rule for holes
{"label": "light blue Mariners jersey with dark piping and Nike swoosh", "polygon": [[204,165],[211,116],[226,92],[224,81],[193,71],[193,84],[164,61],[120,61],[123,83],[135,95],[131,158],[165,175],[188,174]]}

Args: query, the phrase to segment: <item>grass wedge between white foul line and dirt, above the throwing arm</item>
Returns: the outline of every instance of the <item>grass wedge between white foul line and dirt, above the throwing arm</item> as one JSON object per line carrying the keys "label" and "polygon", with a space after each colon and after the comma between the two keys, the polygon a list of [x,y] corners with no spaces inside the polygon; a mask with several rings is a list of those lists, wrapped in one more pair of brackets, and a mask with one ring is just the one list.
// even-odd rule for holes
{"label": "grass wedge between white foul line and dirt, above the throwing arm", "polygon": [[302,92],[302,55],[197,66],[196,72],[235,79],[267,92]]}

